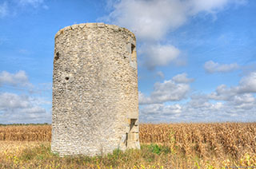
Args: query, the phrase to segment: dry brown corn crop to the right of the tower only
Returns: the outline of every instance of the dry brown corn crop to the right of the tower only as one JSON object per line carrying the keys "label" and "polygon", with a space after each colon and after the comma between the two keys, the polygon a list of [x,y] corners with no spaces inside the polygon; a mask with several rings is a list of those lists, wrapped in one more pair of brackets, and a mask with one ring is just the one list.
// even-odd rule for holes
{"label": "dry brown corn crop to the right of the tower only", "polygon": [[142,143],[162,143],[186,155],[256,154],[256,123],[141,124]]}

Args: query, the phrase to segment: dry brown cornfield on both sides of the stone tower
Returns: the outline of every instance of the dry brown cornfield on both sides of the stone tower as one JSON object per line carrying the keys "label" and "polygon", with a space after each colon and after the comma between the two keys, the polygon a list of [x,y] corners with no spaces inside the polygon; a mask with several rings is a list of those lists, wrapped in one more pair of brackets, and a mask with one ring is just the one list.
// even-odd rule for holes
{"label": "dry brown cornfield on both sides of the stone tower", "polygon": [[[256,123],[141,124],[139,138],[141,143],[160,143],[200,157],[256,154]],[[50,142],[51,126],[0,126],[0,140]]]}

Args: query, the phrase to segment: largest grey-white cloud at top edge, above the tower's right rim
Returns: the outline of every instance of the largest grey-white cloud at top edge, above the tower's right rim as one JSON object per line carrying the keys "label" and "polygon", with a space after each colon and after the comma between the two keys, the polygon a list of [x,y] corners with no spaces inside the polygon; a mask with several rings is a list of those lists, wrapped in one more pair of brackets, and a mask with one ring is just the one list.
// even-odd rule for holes
{"label": "largest grey-white cloud at top edge, above the tower's right rim", "polygon": [[134,31],[141,39],[158,40],[186,21],[185,12],[179,1],[122,0],[114,4],[110,20]]}

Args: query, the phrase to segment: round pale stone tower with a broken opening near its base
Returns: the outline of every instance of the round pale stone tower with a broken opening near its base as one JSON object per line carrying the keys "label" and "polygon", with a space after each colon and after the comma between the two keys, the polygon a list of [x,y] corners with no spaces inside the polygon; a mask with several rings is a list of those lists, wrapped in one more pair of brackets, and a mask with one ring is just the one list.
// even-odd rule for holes
{"label": "round pale stone tower with a broken opening near its base", "polygon": [[55,35],[51,149],[103,155],[140,148],[136,39],[104,23]]}

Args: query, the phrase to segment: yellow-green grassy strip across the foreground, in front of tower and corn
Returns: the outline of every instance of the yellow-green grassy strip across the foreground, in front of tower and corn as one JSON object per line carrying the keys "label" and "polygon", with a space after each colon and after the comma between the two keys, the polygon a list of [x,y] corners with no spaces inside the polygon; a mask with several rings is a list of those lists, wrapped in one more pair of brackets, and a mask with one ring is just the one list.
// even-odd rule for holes
{"label": "yellow-green grassy strip across the foreground, in front of tower and corn", "polygon": [[[28,144],[29,145],[29,144]],[[0,168],[131,168],[131,169],[164,169],[164,168],[226,168],[234,166],[256,166],[256,155],[245,154],[241,159],[228,157],[202,158],[196,155],[188,156],[170,147],[155,143],[143,144],[141,150],[114,150],[108,155],[89,157],[85,155],[60,157],[50,151],[50,143],[39,143],[34,147],[19,149],[19,151],[3,151],[0,153]],[[15,147],[14,147],[15,149]]]}

